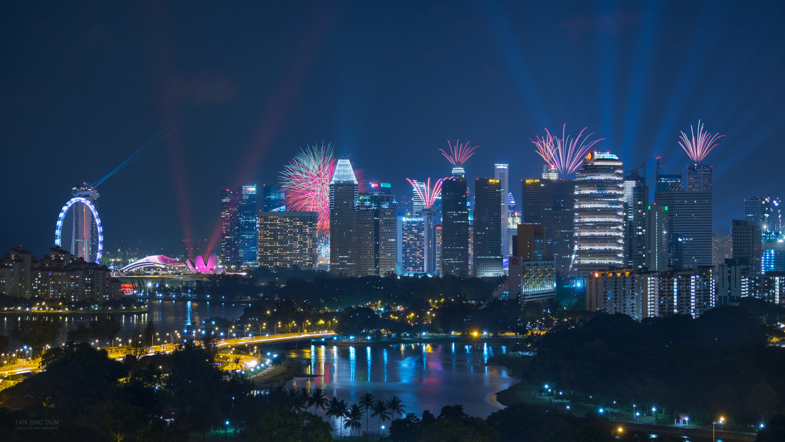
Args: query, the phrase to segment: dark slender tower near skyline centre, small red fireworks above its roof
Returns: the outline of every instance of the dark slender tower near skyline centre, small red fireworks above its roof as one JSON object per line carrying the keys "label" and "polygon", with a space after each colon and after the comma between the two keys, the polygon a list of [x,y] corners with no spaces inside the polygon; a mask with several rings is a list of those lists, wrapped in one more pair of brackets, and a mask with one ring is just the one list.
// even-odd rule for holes
{"label": "dark slender tower near skyline centre, small red fireworks above its roof", "polygon": [[469,273],[469,210],[466,180],[453,176],[442,183],[442,271],[465,276]]}

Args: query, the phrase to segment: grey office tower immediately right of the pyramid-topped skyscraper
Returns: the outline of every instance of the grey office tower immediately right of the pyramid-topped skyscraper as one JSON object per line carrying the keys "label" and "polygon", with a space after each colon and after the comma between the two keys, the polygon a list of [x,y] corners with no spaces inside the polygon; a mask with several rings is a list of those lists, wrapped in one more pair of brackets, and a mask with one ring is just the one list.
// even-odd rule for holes
{"label": "grey office tower immediately right of the pyramid-topped skyscraper", "polygon": [[387,183],[372,184],[357,204],[357,269],[360,275],[396,271],[398,226],[395,195]]}

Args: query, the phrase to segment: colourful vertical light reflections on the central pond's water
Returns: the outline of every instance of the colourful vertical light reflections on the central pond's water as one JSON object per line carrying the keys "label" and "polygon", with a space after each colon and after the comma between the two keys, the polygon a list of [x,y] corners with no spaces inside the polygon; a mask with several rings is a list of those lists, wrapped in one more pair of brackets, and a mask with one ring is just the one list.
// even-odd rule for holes
{"label": "colourful vertical light reflections on the central pond's water", "polygon": [[[365,357],[358,358],[358,352]],[[399,396],[407,413],[438,415],[441,407],[462,404],[467,414],[485,418],[502,408],[495,393],[517,382],[506,367],[485,365],[491,355],[505,352],[506,346],[492,344],[312,345],[287,352],[287,358],[298,359],[305,373],[317,376],[290,385],[319,387],[349,404],[371,392],[377,400]]]}

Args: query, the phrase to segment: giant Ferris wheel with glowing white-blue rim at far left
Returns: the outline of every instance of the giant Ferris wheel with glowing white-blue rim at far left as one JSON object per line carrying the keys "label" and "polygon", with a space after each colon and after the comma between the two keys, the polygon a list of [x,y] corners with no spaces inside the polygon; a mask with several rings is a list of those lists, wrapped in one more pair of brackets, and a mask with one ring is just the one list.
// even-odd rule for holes
{"label": "giant Ferris wheel with glowing white-blue rim at far left", "polygon": [[71,232],[71,250],[74,256],[100,263],[104,251],[104,229],[100,224],[98,209],[94,202],[99,197],[97,191],[90,186],[77,186],[71,190],[74,196],[60,210],[57,216],[57,227],[54,232],[54,244],[62,246],[63,225],[69,209],[73,214],[73,230]]}

